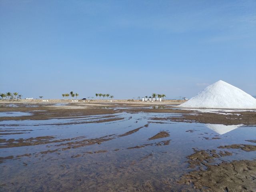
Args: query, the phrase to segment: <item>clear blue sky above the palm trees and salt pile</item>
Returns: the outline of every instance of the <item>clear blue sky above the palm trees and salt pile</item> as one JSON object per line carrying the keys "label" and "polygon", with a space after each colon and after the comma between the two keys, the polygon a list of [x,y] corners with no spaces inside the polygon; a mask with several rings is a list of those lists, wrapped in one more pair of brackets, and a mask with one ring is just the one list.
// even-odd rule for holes
{"label": "clear blue sky above the palm trees and salt pile", "polygon": [[0,92],[256,95],[255,0],[0,0]]}

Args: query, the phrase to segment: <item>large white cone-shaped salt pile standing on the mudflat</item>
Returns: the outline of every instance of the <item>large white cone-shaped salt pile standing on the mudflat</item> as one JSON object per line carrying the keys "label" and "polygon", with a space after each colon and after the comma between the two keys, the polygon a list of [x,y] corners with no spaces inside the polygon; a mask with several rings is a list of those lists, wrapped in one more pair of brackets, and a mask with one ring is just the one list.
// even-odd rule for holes
{"label": "large white cone-shaped salt pile standing on the mudflat", "polygon": [[180,105],[186,108],[256,109],[256,99],[222,80]]}

